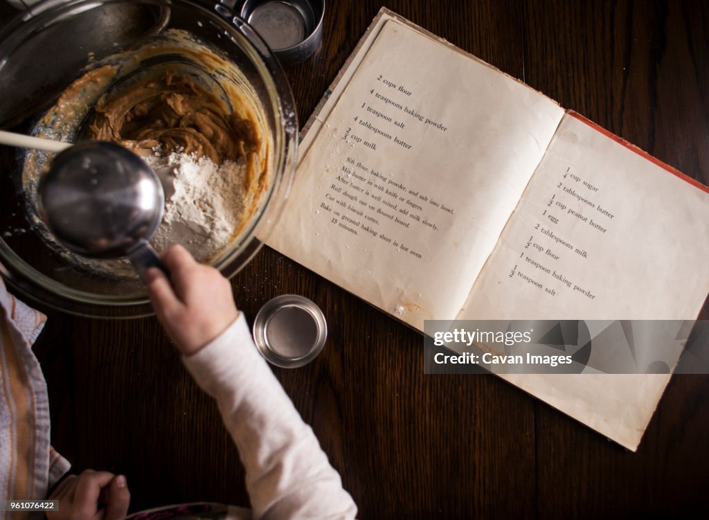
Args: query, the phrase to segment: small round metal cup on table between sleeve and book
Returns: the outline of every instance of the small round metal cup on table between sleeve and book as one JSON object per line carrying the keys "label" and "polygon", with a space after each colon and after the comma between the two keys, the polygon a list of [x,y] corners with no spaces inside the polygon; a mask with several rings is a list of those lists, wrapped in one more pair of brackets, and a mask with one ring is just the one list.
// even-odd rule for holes
{"label": "small round metal cup on table between sleeve and book", "polygon": [[298,294],[270,299],[254,320],[254,341],[269,363],[296,368],[310,363],[328,337],[325,315],[315,303]]}

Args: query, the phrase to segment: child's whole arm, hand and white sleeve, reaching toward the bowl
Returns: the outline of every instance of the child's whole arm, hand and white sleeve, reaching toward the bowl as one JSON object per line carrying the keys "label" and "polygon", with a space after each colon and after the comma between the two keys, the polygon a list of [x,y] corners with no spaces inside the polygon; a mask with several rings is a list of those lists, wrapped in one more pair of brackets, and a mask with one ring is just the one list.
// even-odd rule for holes
{"label": "child's whole arm, hand and white sleeve, reaching toward the bowl", "polygon": [[229,282],[181,247],[167,250],[164,262],[172,286],[151,272],[153,306],[187,369],[218,402],[255,518],[354,518],[352,497],[256,350]]}

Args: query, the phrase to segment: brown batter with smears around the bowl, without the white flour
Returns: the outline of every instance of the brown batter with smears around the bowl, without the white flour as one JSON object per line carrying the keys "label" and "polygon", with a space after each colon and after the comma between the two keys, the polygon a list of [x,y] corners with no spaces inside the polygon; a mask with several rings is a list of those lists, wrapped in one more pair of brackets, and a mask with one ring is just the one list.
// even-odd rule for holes
{"label": "brown batter with smears around the bowl, without the white flour", "polygon": [[[255,87],[220,52],[185,31],[163,31],[134,50],[90,62],[33,134],[69,142],[113,141],[147,158],[179,153],[194,161],[208,158],[217,167],[238,163],[244,175],[233,177],[238,185],[225,188],[240,192],[243,202],[240,214],[230,215],[233,235],[204,261],[228,252],[271,184],[273,142]],[[36,210],[36,192],[51,160],[51,154],[30,150],[23,168],[28,212],[40,235],[77,264],[134,276],[125,262],[73,255],[46,230]]]}

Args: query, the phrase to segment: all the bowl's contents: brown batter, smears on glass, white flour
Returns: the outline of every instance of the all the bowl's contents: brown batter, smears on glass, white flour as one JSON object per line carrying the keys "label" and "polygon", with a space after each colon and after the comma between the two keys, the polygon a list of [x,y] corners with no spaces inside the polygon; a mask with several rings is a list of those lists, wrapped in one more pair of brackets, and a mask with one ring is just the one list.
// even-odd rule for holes
{"label": "all the bowl's contents: brown batter, smears on glass, white flour", "polygon": [[[113,141],[143,156],[165,189],[152,244],[160,251],[182,243],[206,262],[235,243],[267,189],[272,143],[265,127],[263,108],[235,65],[189,33],[166,31],[94,64],[36,134]],[[47,160],[28,156],[29,191]]]}

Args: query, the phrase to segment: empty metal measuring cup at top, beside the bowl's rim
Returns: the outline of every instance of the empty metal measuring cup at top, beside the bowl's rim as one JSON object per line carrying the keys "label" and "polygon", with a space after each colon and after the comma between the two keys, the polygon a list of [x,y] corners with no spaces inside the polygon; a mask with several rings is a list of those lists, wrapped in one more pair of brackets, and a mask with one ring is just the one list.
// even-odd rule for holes
{"label": "empty metal measuring cup at top, beside the bowl's rim", "polygon": [[306,60],[318,48],[325,0],[246,0],[240,14],[281,64],[289,67]]}

